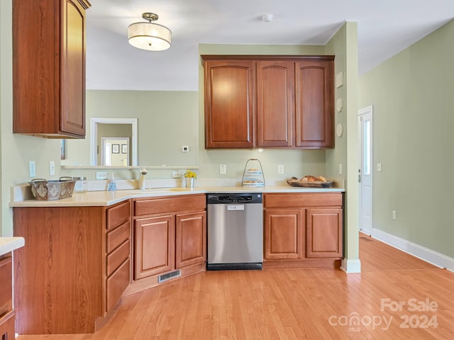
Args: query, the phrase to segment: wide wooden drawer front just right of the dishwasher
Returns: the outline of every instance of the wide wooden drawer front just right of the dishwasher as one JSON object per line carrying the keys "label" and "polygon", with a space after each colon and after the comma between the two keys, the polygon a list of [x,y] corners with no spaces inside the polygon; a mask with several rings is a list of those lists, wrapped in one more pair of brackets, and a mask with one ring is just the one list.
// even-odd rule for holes
{"label": "wide wooden drawer front just right of the dishwasher", "polygon": [[265,208],[342,207],[342,193],[265,193]]}

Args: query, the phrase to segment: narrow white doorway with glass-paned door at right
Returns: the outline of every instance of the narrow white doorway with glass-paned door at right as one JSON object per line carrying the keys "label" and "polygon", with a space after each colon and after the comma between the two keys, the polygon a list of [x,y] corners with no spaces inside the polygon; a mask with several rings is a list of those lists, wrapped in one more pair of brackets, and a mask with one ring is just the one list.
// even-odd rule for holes
{"label": "narrow white doorway with glass-paned door at right", "polygon": [[372,234],[372,106],[358,111],[358,148],[360,167],[358,169],[359,229]]}

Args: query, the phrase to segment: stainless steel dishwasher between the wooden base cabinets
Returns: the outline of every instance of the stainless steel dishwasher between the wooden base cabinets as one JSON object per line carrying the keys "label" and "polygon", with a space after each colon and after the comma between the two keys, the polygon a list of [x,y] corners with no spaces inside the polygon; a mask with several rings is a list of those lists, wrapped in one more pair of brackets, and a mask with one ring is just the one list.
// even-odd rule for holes
{"label": "stainless steel dishwasher between the wooden base cabinets", "polygon": [[262,269],[262,193],[210,193],[206,210],[206,269]]}

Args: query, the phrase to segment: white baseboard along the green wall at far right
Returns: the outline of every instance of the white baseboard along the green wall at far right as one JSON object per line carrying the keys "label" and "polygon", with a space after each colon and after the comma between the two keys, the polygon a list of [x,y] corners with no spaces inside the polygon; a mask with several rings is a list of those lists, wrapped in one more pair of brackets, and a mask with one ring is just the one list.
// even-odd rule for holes
{"label": "white baseboard along the green wall at far right", "polygon": [[432,263],[434,266],[454,271],[454,259],[449,256],[428,249],[425,246],[420,246],[419,244],[407,241],[406,239],[401,239],[400,237],[388,234],[379,229],[372,229],[372,234],[370,236],[389,244],[390,246],[394,246],[394,248],[405,251],[410,255],[416,256],[423,261]]}

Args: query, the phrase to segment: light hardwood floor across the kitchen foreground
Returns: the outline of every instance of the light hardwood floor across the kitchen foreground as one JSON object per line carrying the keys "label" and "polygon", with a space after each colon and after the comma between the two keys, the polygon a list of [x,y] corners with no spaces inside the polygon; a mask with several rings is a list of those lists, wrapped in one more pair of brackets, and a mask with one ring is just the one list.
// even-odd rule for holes
{"label": "light hardwood floor across the kitchen foreground", "polygon": [[363,234],[360,259],[351,274],[198,273],[123,297],[95,334],[18,339],[454,339],[454,273]]}

